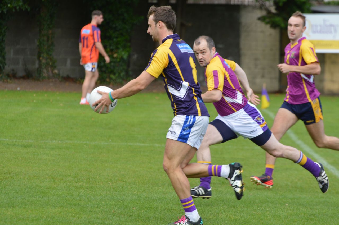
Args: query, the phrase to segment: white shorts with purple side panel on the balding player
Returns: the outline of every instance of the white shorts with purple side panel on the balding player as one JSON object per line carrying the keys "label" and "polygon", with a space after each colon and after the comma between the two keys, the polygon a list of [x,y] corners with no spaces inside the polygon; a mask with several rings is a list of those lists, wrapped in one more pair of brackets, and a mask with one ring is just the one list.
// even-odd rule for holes
{"label": "white shorts with purple side panel on the balding player", "polygon": [[[231,115],[218,115],[216,119],[224,122],[238,137],[254,138],[268,130],[264,117],[257,107],[251,103]],[[222,133],[221,135],[223,136]],[[271,136],[271,133],[269,135]]]}

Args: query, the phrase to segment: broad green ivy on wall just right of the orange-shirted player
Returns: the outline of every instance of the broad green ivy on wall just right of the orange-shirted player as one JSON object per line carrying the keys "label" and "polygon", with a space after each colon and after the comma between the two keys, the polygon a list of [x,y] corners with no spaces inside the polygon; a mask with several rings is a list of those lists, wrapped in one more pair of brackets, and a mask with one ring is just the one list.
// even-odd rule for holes
{"label": "broad green ivy on wall just right of the orange-shirted player", "polygon": [[128,70],[129,54],[131,53],[130,36],[133,26],[140,22],[142,17],[134,14],[138,0],[87,0],[88,12],[99,9],[103,13],[104,21],[99,26],[101,42],[111,62],[106,64],[100,55],[99,83],[117,84],[130,77]]}

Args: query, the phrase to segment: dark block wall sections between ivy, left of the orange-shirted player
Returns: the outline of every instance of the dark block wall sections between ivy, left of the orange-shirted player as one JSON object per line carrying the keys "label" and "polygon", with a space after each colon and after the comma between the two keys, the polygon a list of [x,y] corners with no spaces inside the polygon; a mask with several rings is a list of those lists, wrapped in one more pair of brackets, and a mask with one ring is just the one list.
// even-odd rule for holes
{"label": "dark block wall sections between ivy, left of the orange-shirted player", "polygon": [[[54,57],[61,76],[84,77],[80,65],[78,40],[81,28],[91,22],[91,15],[84,16],[77,2],[59,1],[54,27]],[[7,23],[5,39],[5,72],[14,71],[18,77],[36,74],[38,68],[37,40],[39,29],[36,15],[19,12]]]}

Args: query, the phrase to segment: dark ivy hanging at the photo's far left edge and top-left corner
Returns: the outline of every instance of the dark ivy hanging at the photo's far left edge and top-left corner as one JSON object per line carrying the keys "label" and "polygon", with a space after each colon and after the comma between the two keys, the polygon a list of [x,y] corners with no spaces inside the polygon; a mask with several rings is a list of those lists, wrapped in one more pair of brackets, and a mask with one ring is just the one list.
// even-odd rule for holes
{"label": "dark ivy hanging at the photo's far left edge and top-left corner", "polygon": [[7,26],[6,22],[13,12],[19,10],[29,10],[27,3],[22,0],[1,0],[0,1],[0,81],[7,80],[7,75],[4,74],[6,66],[6,51],[5,51],[5,38]]}

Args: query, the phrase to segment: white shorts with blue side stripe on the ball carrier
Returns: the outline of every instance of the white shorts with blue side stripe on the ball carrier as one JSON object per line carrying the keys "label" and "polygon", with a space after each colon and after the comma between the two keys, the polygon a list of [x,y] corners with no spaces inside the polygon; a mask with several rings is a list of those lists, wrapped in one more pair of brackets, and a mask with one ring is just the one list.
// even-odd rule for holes
{"label": "white shorts with blue side stripe on the ball carrier", "polygon": [[181,141],[199,149],[208,126],[208,116],[177,115],[172,119],[166,138]]}

